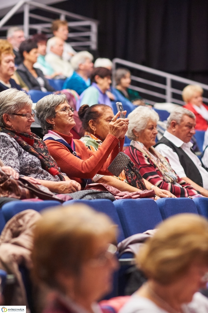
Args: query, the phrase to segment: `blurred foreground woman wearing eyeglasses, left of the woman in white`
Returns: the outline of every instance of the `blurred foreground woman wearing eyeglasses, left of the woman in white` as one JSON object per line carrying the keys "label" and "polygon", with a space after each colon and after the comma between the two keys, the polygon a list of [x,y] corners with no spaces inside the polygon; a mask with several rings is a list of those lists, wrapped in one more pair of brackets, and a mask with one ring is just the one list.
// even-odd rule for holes
{"label": "blurred foreground woman wearing eyeglasses, left of the woman in white", "polygon": [[[33,279],[53,290],[44,313],[101,313],[118,268],[116,227],[85,205],[45,211],[34,230]],[[49,297],[48,297],[49,298]]]}

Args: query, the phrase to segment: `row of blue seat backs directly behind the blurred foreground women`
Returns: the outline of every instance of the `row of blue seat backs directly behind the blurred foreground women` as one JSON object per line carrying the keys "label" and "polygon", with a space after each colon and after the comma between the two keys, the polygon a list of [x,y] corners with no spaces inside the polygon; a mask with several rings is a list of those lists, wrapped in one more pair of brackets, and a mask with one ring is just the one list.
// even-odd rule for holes
{"label": "row of blue seat backs directly behind the blurred foreground women", "polygon": [[[208,218],[208,198],[161,198],[156,202],[152,199],[121,199],[111,202],[107,199],[70,200],[63,205],[84,203],[99,212],[106,213],[118,225],[118,242],[135,233],[143,233],[153,229],[163,219],[179,213],[195,213]],[[33,209],[41,211],[44,208],[60,205],[58,201],[12,201],[3,205],[0,211],[0,231],[5,223],[15,214]]]}

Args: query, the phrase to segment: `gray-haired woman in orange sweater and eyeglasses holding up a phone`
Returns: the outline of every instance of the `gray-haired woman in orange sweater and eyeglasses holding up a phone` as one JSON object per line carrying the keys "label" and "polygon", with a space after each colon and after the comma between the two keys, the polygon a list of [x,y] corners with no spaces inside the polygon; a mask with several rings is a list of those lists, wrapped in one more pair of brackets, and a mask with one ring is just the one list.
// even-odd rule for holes
{"label": "gray-haired woman in orange sweater and eyeglasses holding up a phone", "polygon": [[[108,167],[119,151],[123,150],[128,119],[117,119],[117,113],[109,123],[109,133],[98,151],[90,151],[80,140],[73,140],[71,129],[75,126],[74,110],[65,95],[47,95],[37,102],[36,113],[43,129],[43,141],[61,171],[76,180],[84,189],[95,182],[94,176],[112,175]],[[99,175],[96,177],[99,180]]]}

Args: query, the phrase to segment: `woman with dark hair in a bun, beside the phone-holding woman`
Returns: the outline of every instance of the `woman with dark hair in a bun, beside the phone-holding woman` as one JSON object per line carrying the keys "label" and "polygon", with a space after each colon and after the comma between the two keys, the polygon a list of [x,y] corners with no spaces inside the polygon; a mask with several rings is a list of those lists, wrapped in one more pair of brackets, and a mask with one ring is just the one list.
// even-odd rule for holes
{"label": "woman with dark hair in a bun, beside the phone-holding woman", "polygon": [[[82,121],[82,127],[85,130],[84,137],[80,140],[91,151],[97,151],[104,143],[109,133],[109,123],[114,116],[112,109],[108,105],[82,105],[78,112]],[[136,173],[134,172],[136,170]],[[121,191],[134,192],[138,189],[153,189],[155,194],[161,198],[175,197],[167,190],[162,190],[141,177],[139,171],[131,164],[125,166],[119,177],[101,176],[99,182],[116,187]]]}

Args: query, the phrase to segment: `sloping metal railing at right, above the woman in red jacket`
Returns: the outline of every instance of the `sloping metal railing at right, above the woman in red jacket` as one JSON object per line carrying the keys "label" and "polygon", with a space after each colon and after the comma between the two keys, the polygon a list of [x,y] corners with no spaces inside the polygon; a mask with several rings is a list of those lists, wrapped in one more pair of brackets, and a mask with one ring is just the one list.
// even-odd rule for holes
{"label": "sloping metal railing at right, above the woman in red jacket", "polygon": [[[123,59],[119,59],[119,58],[113,59],[113,74],[115,72],[116,65],[122,65],[122,66],[127,66],[127,67],[130,67],[130,68],[133,68],[133,69],[139,69],[140,71],[147,72],[147,73],[150,73],[150,74],[154,74],[154,75],[166,78],[166,85],[164,85],[164,84],[157,83],[157,82],[155,82],[153,80],[146,80],[144,78],[131,75],[131,80],[132,81],[138,81],[138,82],[146,84],[146,85],[150,85],[150,86],[154,86],[154,87],[158,87],[158,88],[164,89],[165,90],[165,94],[162,94],[160,92],[155,92],[155,91],[152,91],[152,90],[149,90],[149,89],[146,89],[146,88],[133,86],[133,85],[129,86],[129,88],[131,88],[133,90],[136,90],[136,91],[139,91],[139,92],[142,92],[142,93],[144,93],[146,95],[152,95],[152,96],[158,97],[160,99],[164,99],[165,102],[173,102],[173,103],[176,103],[176,104],[184,105],[184,101],[173,98],[173,93],[176,93],[178,95],[182,95],[182,90],[172,88],[172,80],[178,81],[180,83],[184,83],[184,84],[187,84],[187,85],[189,85],[189,84],[196,85],[197,84],[197,85],[200,85],[204,90],[208,90],[208,85],[196,82],[194,80],[189,80],[189,79],[186,79],[186,78],[183,78],[183,77],[180,77],[180,76],[176,76],[176,75],[173,75],[173,74],[169,74],[169,73],[166,73],[166,72],[162,72],[162,71],[159,71],[157,69],[152,69],[152,68],[144,66],[144,65],[136,64],[136,63],[129,62],[129,61],[126,61],[126,60],[123,60]],[[114,75],[113,75],[113,77],[114,77]],[[113,79],[113,86],[115,87],[114,79]],[[148,100],[148,98],[146,100],[150,104],[154,104],[155,103],[154,101]],[[204,102],[208,102],[208,98],[203,97],[203,101]]]}

